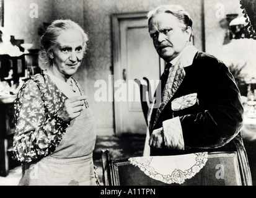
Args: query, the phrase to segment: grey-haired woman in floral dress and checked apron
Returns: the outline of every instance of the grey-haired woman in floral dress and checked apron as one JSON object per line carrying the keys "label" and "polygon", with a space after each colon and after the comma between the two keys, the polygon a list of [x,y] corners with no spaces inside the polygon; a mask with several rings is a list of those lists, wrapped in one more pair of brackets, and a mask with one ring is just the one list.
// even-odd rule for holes
{"label": "grey-haired woman in floral dress and checked apron", "polygon": [[87,41],[71,20],[55,20],[41,38],[48,67],[27,80],[14,101],[19,185],[96,185],[94,115],[72,77]]}

